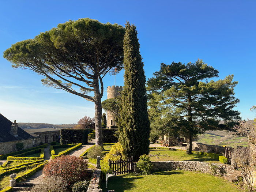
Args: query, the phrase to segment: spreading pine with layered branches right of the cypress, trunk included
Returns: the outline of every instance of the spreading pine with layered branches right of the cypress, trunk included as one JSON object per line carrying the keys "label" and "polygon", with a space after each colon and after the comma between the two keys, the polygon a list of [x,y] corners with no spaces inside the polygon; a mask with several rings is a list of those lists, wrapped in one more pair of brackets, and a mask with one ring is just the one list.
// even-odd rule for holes
{"label": "spreading pine with layered branches right of the cypress, trunk included", "polygon": [[[169,135],[187,138],[187,153],[192,150],[192,137],[206,130],[231,129],[240,112],[233,110],[239,99],[234,97],[233,75],[217,81],[218,70],[196,63],[161,64],[160,71],[147,81],[151,122]],[[224,120],[225,124],[219,124]],[[160,128],[159,128],[160,127]],[[189,146],[190,145],[190,146]]]}

